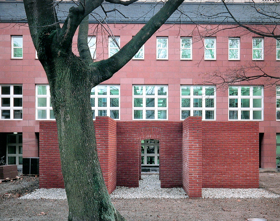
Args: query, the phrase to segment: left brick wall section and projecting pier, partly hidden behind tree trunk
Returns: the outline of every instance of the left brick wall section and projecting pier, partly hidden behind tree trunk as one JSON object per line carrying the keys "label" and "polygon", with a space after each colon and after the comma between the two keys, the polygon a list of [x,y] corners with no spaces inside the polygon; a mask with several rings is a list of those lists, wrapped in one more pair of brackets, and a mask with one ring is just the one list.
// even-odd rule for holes
{"label": "left brick wall section and projecting pier, partly hidden behind tree trunk", "polygon": [[[97,117],[95,127],[97,155],[106,187],[111,193],[116,188],[116,121],[109,117]],[[54,121],[40,122],[39,156],[39,187],[64,188]]]}

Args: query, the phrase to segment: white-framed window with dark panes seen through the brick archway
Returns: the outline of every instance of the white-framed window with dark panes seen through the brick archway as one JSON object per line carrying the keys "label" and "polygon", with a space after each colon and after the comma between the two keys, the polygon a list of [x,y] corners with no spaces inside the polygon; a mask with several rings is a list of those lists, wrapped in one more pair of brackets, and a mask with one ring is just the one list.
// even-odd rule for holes
{"label": "white-framed window with dark panes seen through the brick archway", "polygon": [[160,165],[160,142],[158,140],[141,140],[141,165]]}

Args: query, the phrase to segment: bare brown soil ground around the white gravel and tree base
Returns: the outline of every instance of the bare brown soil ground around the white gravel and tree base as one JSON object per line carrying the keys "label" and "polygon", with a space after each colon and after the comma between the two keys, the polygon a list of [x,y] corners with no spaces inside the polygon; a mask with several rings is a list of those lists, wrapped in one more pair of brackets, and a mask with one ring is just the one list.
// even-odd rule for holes
{"label": "bare brown soil ground around the white gravel and tree base", "polygon": [[[260,173],[260,188],[280,194],[280,174]],[[67,220],[66,200],[20,200],[38,188],[38,178],[0,184],[0,220]],[[7,195],[6,195],[7,194]],[[128,221],[280,221],[280,198],[275,199],[141,199],[113,200]]]}

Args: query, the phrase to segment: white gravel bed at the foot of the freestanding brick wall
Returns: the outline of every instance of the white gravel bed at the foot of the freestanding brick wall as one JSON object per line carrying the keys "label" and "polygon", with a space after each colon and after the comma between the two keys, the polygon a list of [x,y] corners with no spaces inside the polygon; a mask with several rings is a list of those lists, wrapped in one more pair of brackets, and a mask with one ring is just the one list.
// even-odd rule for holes
{"label": "white gravel bed at the foot of the freestanding brick wall", "polygon": [[[111,193],[112,199],[166,198],[182,199],[188,196],[183,188],[160,188],[159,175],[142,175],[139,187],[117,187]],[[280,195],[264,189],[224,189],[203,188],[202,198],[205,199],[248,199],[278,198]],[[59,199],[66,200],[64,189],[38,189],[19,199]]]}

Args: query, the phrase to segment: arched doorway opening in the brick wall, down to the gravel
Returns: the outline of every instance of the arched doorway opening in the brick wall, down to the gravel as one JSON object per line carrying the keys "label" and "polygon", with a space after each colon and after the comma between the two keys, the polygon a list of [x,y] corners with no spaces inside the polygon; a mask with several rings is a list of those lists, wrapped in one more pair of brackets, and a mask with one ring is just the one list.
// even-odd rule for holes
{"label": "arched doorway opening in the brick wall, down to the gravel", "polygon": [[160,141],[155,139],[141,140],[141,171],[159,172]]}

